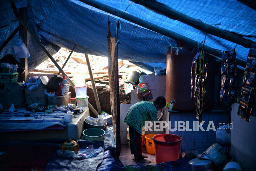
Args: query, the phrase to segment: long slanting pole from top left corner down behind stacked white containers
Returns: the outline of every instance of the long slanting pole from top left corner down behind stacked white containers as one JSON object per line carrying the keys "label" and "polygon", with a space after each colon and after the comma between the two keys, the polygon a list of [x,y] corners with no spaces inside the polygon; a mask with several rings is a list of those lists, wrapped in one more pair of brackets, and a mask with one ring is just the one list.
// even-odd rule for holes
{"label": "long slanting pole from top left corner down behind stacked white containers", "polygon": [[[10,0],[11,1],[11,0]],[[13,5],[12,5],[13,7]],[[15,7],[15,5],[14,5]],[[16,7],[15,7],[16,9]],[[15,9],[14,9],[14,13],[15,13]],[[17,11],[17,9],[16,9]],[[16,14],[15,14],[16,15]],[[19,17],[19,15],[17,18],[19,19],[19,21],[23,24],[23,26],[25,27],[25,29],[27,29],[27,31],[29,32],[29,34],[31,34],[32,38],[35,39],[35,41],[38,43],[38,45],[42,48],[42,50],[44,51],[44,53],[51,59],[51,61],[54,63],[54,65],[60,70],[61,74],[63,74],[64,76],[66,76],[66,78],[68,78],[68,82],[69,84],[73,87],[73,89],[75,89],[75,84],[70,80],[70,78],[68,77],[68,75],[62,70],[62,68],[58,65],[58,63],[54,60],[54,58],[52,57],[52,55],[48,52],[47,49],[45,49],[45,47],[43,46],[42,42],[39,40],[39,38],[36,37],[35,33],[27,26],[27,24],[24,22],[24,20]],[[93,106],[89,103],[88,101],[88,106],[89,109],[91,109],[93,111],[93,113],[95,115],[98,115],[97,111],[93,108]]]}

